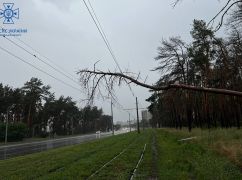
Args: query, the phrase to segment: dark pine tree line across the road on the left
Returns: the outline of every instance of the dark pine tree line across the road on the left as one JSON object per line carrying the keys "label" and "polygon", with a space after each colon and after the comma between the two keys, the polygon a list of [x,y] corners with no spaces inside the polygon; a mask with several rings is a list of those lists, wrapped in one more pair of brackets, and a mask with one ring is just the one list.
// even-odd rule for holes
{"label": "dark pine tree line across the road on the left", "polygon": [[0,83],[1,131],[7,119],[10,126],[24,125],[26,137],[111,130],[112,117],[103,114],[102,109],[96,106],[78,108],[71,97],[56,98],[50,89],[38,78],[31,78],[21,88]]}

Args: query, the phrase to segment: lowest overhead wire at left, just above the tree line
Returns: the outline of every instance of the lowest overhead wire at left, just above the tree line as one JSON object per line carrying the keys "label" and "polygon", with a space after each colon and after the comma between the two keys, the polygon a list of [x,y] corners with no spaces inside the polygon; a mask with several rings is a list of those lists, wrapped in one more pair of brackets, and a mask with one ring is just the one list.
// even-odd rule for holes
{"label": "lowest overhead wire at left, just above the tree line", "polygon": [[36,69],[36,70],[38,70],[38,71],[40,71],[40,72],[42,72],[42,73],[44,73],[44,74],[50,76],[51,78],[53,78],[53,79],[55,79],[55,80],[57,80],[57,81],[59,81],[59,82],[65,84],[66,86],[69,86],[69,87],[71,87],[72,89],[75,89],[75,90],[77,90],[78,92],[80,92],[80,89],[78,89],[78,88],[76,88],[76,87],[74,87],[74,86],[72,86],[72,85],[66,83],[65,81],[63,81],[63,80],[61,80],[61,79],[59,79],[59,78],[56,78],[55,76],[49,74],[48,72],[46,72],[46,71],[44,71],[44,70],[42,70],[42,69],[36,67],[35,65],[33,65],[33,64],[29,63],[29,62],[27,62],[27,61],[24,60],[23,58],[20,58],[19,56],[13,54],[13,53],[10,52],[9,50],[7,50],[7,49],[5,49],[5,48],[3,48],[3,47],[1,47],[1,46],[0,46],[0,49],[1,49],[2,51],[6,52],[7,54],[9,54],[9,55],[15,57],[16,59],[22,61],[23,63],[25,63],[25,64],[31,66],[32,68],[34,68],[34,69]]}

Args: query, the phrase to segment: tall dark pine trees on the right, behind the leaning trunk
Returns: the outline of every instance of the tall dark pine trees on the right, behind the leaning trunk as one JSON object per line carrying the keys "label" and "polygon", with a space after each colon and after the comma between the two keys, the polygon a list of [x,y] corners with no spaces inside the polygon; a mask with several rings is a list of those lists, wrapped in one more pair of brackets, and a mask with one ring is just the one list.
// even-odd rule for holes
{"label": "tall dark pine trees on the right, behind the leaning trunk", "polygon": [[[157,86],[186,84],[204,88],[242,91],[242,4],[228,17],[226,37],[218,37],[203,20],[194,20],[192,42],[180,37],[162,40],[155,58],[161,78]],[[169,89],[153,92],[154,127],[241,127],[242,99],[239,96]]]}

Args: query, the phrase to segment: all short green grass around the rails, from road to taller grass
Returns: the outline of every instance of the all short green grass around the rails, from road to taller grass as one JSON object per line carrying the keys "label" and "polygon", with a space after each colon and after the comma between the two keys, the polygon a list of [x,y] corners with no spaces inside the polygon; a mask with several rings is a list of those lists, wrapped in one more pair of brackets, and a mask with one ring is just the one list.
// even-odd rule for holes
{"label": "all short green grass around the rails, from road to taller grass", "polygon": [[203,143],[179,142],[176,131],[128,133],[0,161],[0,179],[129,179],[144,145],[135,179],[242,179],[239,168]]}

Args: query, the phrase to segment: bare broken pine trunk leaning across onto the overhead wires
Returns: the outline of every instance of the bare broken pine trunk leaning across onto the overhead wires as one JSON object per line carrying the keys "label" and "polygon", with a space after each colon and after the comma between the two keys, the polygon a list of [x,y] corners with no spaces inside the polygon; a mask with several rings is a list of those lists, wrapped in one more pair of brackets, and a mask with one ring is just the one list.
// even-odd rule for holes
{"label": "bare broken pine trunk leaning across onto the overhead wires", "polygon": [[186,84],[167,84],[163,86],[157,85],[149,85],[143,83],[139,80],[139,75],[137,77],[133,77],[131,73],[119,73],[119,72],[104,72],[100,70],[88,70],[83,69],[78,72],[80,75],[81,85],[88,91],[89,98],[92,99],[95,95],[95,92],[98,90],[101,93],[100,85],[104,85],[106,90],[109,93],[112,93],[113,87],[115,84],[121,85],[121,83],[126,83],[127,85],[130,83],[134,83],[141,87],[153,90],[153,91],[163,91],[169,89],[186,89],[191,91],[200,91],[200,92],[208,92],[215,94],[223,94],[230,96],[242,96],[242,92],[228,90],[228,89],[219,89],[219,88],[210,88],[210,87],[196,87]]}

